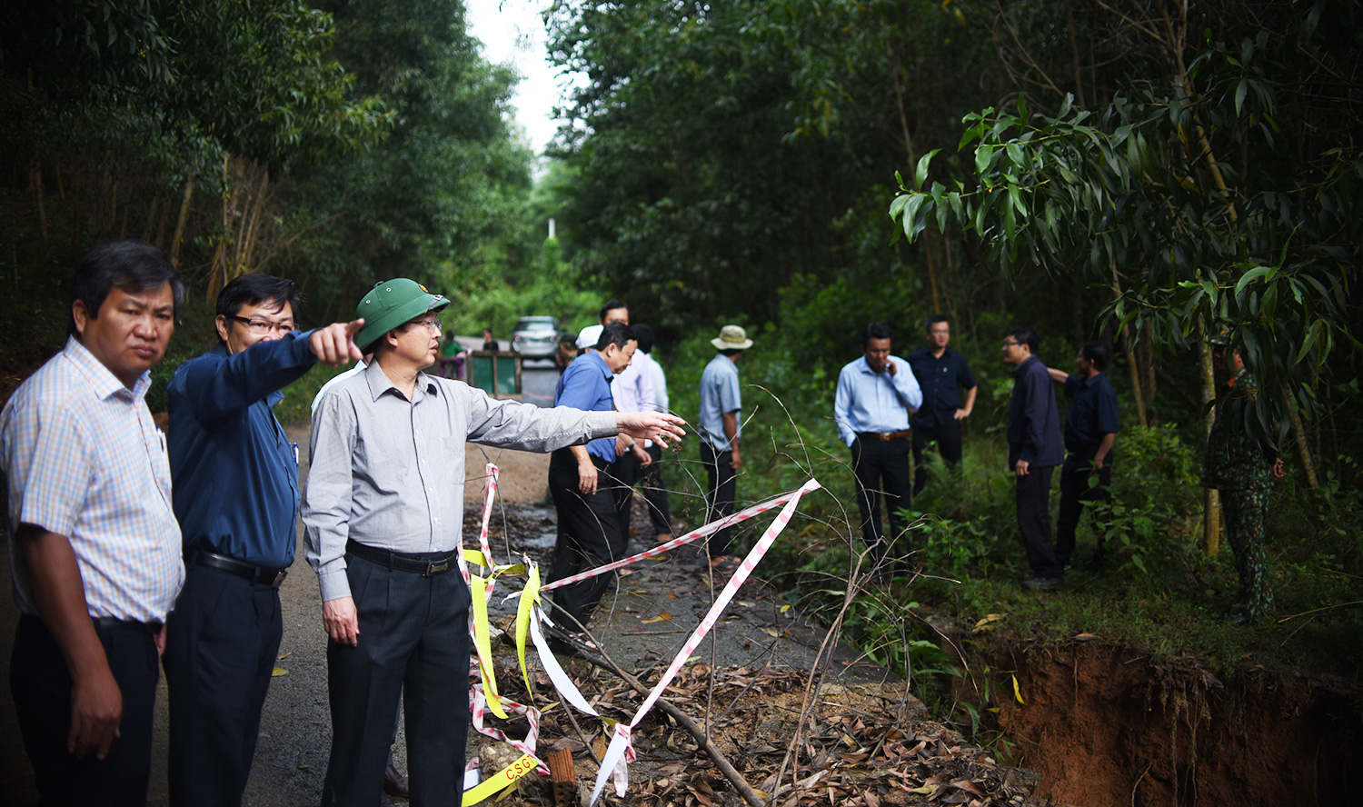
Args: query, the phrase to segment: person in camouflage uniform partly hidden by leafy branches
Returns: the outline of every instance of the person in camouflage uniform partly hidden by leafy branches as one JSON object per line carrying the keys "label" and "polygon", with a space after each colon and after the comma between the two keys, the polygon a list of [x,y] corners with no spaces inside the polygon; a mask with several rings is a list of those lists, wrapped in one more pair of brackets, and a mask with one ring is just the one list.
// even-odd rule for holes
{"label": "person in camouflage uniform partly hidden by leafy branches", "polygon": [[1228,346],[1227,335],[1212,337],[1216,356],[1231,376],[1216,397],[1216,418],[1208,435],[1202,459],[1202,484],[1221,492],[1225,538],[1235,555],[1240,577],[1235,607],[1236,622],[1250,622],[1273,611],[1268,558],[1264,548],[1264,519],[1269,508],[1273,477],[1283,476],[1283,461],[1244,431],[1244,405],[1258,395],[1258,383],[1244,367],[1240,352]]}

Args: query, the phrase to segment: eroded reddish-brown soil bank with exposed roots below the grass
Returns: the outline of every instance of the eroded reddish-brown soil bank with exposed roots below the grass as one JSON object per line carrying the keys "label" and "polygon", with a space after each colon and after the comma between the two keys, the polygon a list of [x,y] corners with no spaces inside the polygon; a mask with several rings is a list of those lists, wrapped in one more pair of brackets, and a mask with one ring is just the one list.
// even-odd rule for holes
{"label": "eroded reddish-brown soil bank with exposed roots below the grass", "polygon": [[958,694],[979,703],[988,669],[987,706],[998,707],[1007,761],[1040,773],[1036,795],[1059,804],[1363,797],[1363,697],[1347,686],[1261,668],[1223,679],[1193,660],[1153,661],[1097,641],[1022,646],[995,637],[969,661],[976,686]]}

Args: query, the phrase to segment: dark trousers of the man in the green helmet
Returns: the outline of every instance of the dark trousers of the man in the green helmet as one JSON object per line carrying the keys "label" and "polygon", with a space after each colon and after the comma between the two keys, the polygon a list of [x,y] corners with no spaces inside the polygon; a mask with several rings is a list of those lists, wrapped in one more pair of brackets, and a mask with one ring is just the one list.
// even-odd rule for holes
{"label": "dark trousers of the man in the green helmet", "polygon": [[322,804],[379,803],[401,697],[412,804],[458,807],[469,739],[469,586],[457,568],[423,577],[350,553],[346,577],[360,642],[327,642],[331,759]]}

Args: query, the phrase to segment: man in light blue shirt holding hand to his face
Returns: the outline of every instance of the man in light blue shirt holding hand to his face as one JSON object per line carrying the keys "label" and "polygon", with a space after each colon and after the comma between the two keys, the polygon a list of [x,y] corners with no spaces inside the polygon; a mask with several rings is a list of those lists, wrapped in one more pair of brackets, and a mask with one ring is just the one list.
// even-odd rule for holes
{"label": "man in light blue shirt holding hand to his face", "polygon": [[833,417],[838,439],[852,448],[852,472],[861,510],[861,540],[874,560],[872,579],[883,581],[887,545],[880,530],[880,484],[890,513],[891,543],[912,551],[908,521],[901,515],[912,503],[909,484],[909,413],[923,404],[923,391],[909,363],[890,356],[890,327],[872,322],[861,331],[861,359],[838,374]]}

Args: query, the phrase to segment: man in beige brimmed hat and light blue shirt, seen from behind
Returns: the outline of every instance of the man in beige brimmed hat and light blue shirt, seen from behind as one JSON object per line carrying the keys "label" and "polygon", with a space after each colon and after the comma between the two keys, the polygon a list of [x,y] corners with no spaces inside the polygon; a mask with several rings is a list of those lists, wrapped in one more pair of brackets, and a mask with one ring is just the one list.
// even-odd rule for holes
{"label": "man in beige brimmed hat and light blue shirt, seen from behind", "polygon": [[[739,451],[739,438],[743,433],[740,412],[743,397],[739,390],[737,361],[743,352],[752,346],[752,339],[736,324],[720,329],[720,335],[710,339],[718,350],[701,374],[701,463],[709,476],[709,513],[706,522],[724,518],[733,513],[737,498],[735,472],[743,465]],[[720,571],[737,567],[729,556],[728,528],[710,536],[710,562]]]}

